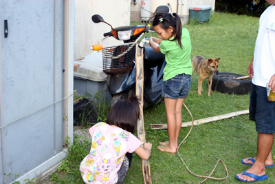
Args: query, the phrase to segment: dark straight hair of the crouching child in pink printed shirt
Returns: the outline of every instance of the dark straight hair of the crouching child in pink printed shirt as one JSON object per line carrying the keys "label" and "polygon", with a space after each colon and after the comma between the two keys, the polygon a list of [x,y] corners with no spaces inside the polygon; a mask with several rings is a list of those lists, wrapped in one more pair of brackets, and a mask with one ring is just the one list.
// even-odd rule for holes
{"label": "dark straight hair of the crouching child in pink printed shirt", "polygon": [[131,96],[128,99],[118,101],[111,107],[106,123],[121,127],[133,134],[139,118],[140,100],[137,96]]}

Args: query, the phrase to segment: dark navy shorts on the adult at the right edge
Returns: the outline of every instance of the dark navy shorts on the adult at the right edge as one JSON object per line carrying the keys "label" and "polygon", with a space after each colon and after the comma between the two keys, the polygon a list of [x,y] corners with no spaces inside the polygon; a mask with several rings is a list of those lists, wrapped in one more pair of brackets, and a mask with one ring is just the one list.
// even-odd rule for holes
{"label": "dark navy shorts on the adult at the right edge", "polygon": [[267,100],[266,88],[254,84],[250,92],[250,120],[255,121],[257,132],[275,133],[275,101]]}

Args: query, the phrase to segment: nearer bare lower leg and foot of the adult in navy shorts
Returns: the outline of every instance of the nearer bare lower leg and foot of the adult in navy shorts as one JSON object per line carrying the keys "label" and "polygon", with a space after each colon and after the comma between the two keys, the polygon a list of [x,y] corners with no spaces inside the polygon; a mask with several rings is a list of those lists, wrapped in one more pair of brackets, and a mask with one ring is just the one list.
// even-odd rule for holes
{"label": "nearer bare lower leg and foot of the adult in navy shorts", "polygon": [[[263,176],[265,174],[265,161],[267,156],[269,156],[274,140],[274,134],[261,134],[258,133],[258,149],[257,149],[257,159],[246,172],[256,174],[258,176]],[[254,178],[251,178],[247,175],[241,175],[242,173],[237,174],[239,178],[245,181],[254,181]]]}

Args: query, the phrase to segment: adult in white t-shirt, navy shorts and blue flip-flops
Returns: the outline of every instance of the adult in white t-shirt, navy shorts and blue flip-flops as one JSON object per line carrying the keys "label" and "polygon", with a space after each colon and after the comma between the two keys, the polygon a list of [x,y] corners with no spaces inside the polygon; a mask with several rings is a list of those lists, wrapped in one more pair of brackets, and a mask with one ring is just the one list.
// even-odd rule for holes
{"label": "adult in white t-shirt, navy shorts and blue flip-flops", "polygon": [[265,167],[273,167],[272,145],[275,134],[275,101],[267,100],[266,85],[275,92],[275,0],[260,17],[254,57],[248,66],[248,75],[253,76],[250,92],[250,120],[255,121],[258,132],[257,155],[241,160],[252,165],[250,169],[236,174],[245,181],[261,181],[267,178]]}

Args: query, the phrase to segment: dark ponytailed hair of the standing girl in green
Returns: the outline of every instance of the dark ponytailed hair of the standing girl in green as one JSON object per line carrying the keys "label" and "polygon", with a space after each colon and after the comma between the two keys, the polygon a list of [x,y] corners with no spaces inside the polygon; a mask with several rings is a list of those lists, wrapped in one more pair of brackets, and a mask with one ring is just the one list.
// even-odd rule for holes
{"label": "dark ponytailed hair of the standing girl in green", "polygon": [[167,30],[170,26],[174,29],[172,34],[175,35],[175,38],[172,40],[177,40],[179,46],[182,48],[183,45],[181,43],[181,20],[179,15],[176,13],[158,13],[155,15],[153,20],[153,26],[160,25],[160,27],[164,30]]}

